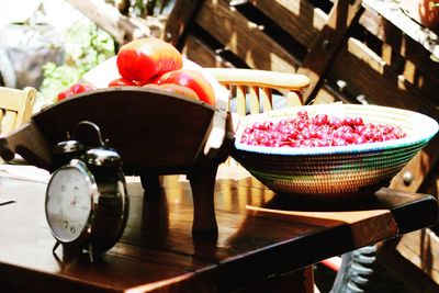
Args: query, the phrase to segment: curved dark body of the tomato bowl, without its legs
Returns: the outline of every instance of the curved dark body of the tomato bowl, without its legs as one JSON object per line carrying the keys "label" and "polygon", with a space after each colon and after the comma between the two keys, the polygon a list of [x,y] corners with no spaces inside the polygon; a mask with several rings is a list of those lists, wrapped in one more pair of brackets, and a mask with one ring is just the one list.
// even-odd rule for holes
{"label": "curved dark body of the tomato bowl, without its legs", "polygon": [[120,87],[80,93],[32,117],[34,144],[16,153],[52,170],[52,149],[81,121],[97,124],[120,153],[126,173],[185,172],[206,140],[215,109],[198,100],[154,89]]}

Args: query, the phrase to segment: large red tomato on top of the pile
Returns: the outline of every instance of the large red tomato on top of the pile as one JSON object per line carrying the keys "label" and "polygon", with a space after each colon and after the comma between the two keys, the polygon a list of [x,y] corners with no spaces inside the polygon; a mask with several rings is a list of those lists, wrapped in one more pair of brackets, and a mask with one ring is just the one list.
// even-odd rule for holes
{"label": "large red tomato on top of the pile", "polygon": [[122,77],[147,83],[154,76],[180,69],[183,60],[171,44],[160,38],[145,37],[123,45],[116,64]]}

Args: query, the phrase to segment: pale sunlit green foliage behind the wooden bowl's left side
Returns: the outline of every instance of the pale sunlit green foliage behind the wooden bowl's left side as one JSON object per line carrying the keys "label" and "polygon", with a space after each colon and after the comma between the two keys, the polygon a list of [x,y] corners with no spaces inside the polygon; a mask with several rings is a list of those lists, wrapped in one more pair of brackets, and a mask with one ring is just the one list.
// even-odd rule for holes
{"label": "pale sunlit green foliage behind the wooden bowl's left side", "polygon": [[65,34],[65,63],[44,65],[40,88],[43,103],[52,103],[57,93],[78,82],[82,75],[115,54],[114,41],[89,20],[81,20]]}

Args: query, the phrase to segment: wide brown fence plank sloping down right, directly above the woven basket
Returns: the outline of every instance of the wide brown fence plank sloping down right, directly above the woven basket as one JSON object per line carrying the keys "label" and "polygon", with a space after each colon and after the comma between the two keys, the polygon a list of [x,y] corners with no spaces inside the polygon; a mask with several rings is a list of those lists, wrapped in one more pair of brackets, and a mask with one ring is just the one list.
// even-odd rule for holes
{"label": "wide brown fence plank sloping down right, directly above the woven basket", "polygon": [[334,82],[345,81],[350,94],[362,94],[370,104],[407,109],[439,119],[439,110],[434,100],[421,94],[384,64],[380,56],[372,54],[353,37],[340,47],[325,78]]}

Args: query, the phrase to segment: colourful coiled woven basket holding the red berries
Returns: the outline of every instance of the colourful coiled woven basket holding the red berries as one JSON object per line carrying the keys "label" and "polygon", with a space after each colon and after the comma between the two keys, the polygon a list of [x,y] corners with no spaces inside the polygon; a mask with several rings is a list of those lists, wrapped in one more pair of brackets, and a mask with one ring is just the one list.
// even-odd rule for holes
{"label": "colourful coiled woven basket holding the red berries", "polygon": [[[360,116],[364,122],[399,126],[405,138],[330,147],[264,147],[241,144],[255,122],[308,115]],[[356,104],[325,104],[248,115],[239,121],[233,157],[278,193],[305,199],[346,199],[370,194],[390,180],[436,135],[438,123],[413,111]]]}

